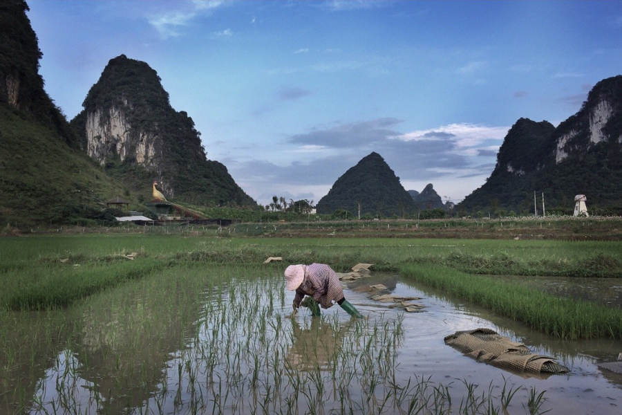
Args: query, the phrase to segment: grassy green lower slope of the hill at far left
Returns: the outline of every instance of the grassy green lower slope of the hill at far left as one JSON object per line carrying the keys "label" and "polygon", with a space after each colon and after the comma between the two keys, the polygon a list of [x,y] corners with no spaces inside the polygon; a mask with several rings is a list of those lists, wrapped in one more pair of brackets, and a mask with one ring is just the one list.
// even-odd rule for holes
{"label": "grassy green lower slope of the hill at far left", "polygon": [[0,105],[0,225],[28,228],[37,223],[109,223],[104,201],[131,192],[112,181],[56,131]]}

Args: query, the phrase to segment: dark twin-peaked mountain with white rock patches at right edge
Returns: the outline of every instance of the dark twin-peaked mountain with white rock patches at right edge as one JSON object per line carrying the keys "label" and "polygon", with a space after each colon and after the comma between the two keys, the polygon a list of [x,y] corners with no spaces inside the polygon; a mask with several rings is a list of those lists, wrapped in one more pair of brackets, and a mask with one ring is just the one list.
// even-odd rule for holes
{"label": "dark twin-peaked mountain with white rock patches at right edge", "polygon": [[622,75],[598,82],[558,127],[520,118],[487,182],[457,208],[534,212],[534,192],[549,212],[572,212],[574,196],[585,194],[588,209],[622,213]]}

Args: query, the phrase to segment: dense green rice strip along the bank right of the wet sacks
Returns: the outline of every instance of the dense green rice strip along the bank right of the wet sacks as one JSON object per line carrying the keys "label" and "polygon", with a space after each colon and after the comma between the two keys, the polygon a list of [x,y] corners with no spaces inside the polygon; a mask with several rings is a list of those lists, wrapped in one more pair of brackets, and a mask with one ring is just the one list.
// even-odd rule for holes
{"label": "dense green rice strip along the bank right of the wet sacks", "polygon": [[558,338],[622,339],[622,311],[592,302],[555,297],[491,277],[442,266],[406,264],[402,276],[479,304]]}

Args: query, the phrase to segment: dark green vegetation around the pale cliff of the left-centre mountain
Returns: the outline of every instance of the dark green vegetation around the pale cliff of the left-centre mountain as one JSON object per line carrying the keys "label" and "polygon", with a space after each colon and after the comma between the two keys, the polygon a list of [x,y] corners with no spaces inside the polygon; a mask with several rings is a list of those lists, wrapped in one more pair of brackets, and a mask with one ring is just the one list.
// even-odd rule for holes
{"label": "dark green vegetation around the pale cliff of the left-centre mountain", "polygon": [[171,200],[195,205],[229,205],[256,209],[256,203],[235,183],[227,168],[207,160],[200,133],[185,111],[176,111],[169,103],[158,73],[145,62],[120,55],[106,65],[100,80],[88,91],[84,110],[71,125],[86,145],[86,113],[99,110],[102,122],[111,107],[122,109],[130,133],[135,137],[151,133],[161,138],[162,159],[157,168],[144,166],[129,156],[106,162],[106,172],[120,179],[136,192],[145,194],[154,178],[166,178],[173,190]]}

